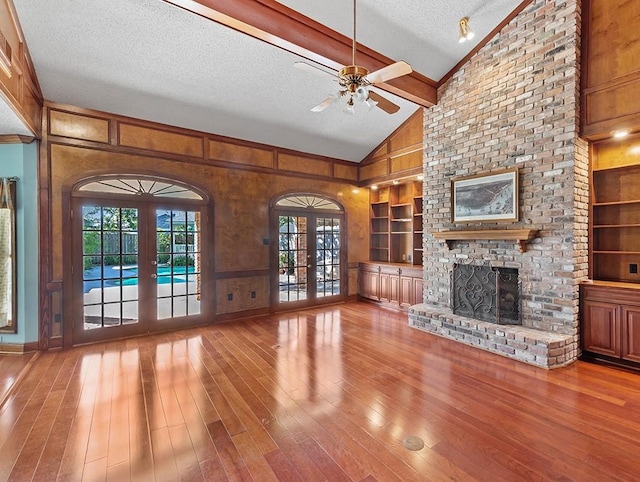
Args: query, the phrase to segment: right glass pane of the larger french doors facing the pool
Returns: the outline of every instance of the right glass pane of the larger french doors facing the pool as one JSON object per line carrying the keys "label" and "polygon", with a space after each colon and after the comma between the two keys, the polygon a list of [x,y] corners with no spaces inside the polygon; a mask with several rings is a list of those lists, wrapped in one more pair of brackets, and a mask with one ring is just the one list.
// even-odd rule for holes
{"label": "right glass pane of the larger french doors facing the pool", "polygon": [[200,314],[201,233],[200,211],[156,210],[158,319]]}

